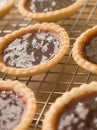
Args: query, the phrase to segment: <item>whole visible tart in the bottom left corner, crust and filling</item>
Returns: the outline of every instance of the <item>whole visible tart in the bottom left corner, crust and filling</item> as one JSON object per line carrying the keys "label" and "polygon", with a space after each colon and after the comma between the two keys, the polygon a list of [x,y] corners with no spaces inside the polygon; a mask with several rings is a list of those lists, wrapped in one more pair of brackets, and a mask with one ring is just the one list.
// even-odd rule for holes
{"label": "whole visible tart in the bottom left corner, crust and filling", "polygon": [[25,84],[0,80],[0,130],[27,130],[35,110],[34,93]]}

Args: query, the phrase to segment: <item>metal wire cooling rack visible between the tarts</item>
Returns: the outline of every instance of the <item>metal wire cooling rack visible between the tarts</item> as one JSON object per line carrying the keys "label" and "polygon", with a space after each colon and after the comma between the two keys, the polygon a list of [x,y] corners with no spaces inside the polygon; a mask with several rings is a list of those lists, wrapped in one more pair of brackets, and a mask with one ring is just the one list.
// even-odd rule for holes
{"label": "metal wire cooling rack visible between the tarts", "polygon": [[[9,14],[0,19],[0,37],[35,23],[31,19],[21,16],[16,5]],[[42,128],[45,112],[55,99],[65,91],[69,91],[73,87],[79,87],[82,83],[97,80],[97,75],[80,68],[71,55],[76,38],[82,32],[97,24],[97,0],[86,0],[79,12],[57,24],[68,32],[71,45],[68,54],[55,67],[46,73],[26,78],[9,76],[0,72],[1,79],[19,80],[34,91],[37,99],[37,111],[29,130],[40,130]]]}

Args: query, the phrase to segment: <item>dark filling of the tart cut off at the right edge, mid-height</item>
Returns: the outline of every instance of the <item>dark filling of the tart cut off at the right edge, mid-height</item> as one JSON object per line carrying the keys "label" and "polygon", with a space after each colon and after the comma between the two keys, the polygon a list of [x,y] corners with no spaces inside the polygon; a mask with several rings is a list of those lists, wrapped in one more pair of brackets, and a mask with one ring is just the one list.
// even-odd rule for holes
{"label": "dark filling of the tart cut off at the right edge, mid-height", "polygon": [[86,42],[83,49],[83,56],[88,59],[88,61],[97,64],[97,36]]}

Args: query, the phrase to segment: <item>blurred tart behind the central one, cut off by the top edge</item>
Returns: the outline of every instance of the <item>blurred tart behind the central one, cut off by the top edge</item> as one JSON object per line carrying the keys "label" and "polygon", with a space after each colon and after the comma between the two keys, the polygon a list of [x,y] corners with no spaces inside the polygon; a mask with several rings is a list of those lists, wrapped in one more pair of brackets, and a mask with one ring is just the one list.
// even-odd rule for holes
{"label": "blurred tart behind the central one, cut off by the top edge", "polygon": [[21,0],[19,12],[38,21],[59,21],[73,15],[86,0]]}

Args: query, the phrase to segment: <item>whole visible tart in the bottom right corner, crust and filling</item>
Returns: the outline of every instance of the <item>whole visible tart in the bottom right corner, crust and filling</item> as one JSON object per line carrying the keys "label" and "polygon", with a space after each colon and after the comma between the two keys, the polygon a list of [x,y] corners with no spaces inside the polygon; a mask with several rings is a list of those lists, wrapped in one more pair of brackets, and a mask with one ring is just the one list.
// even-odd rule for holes
{"label": "whole visible tart in the bottom right corner, crust and filling", "polygon": [[42,130],[96,130],[97,82],[64,93],[45,114]]}

